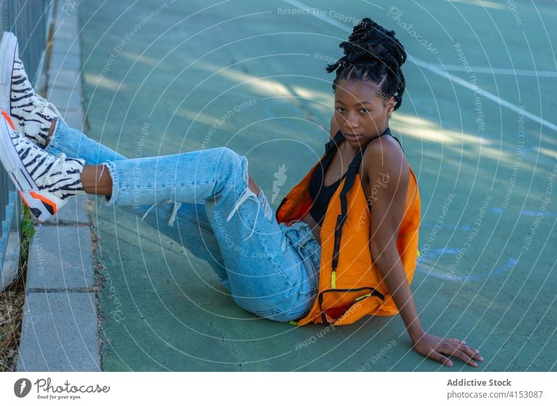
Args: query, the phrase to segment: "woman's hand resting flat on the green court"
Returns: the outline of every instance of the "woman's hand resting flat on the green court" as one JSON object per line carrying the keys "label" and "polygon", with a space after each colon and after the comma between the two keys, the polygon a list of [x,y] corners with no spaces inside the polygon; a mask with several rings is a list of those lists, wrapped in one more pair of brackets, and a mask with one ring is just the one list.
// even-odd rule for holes
{"label": "woman's hand resting flat on the green court", "polygon": [[414,350],[424,357],[434,359],[446,366],[453,366],[453,361],[444,354],[454,355],[462,359],[466,364],[478,366],[476,361],[483,361],[483,357],[480,357],[478,350],[465,344],[466,342],[457,340],[457,338],[444,338],[433,336],[432,334],[424,334],[414,343]]}

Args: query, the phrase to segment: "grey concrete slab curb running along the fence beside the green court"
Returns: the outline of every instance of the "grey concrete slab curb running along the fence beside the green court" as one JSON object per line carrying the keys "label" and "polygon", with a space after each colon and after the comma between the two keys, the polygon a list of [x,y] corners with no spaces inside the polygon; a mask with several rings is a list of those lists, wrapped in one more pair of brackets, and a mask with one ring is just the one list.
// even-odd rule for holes
{"label": "grey concrete slab curb running along the fence beside the green court", "polygon": [[[77,8],[58,1],[47,98],[70,127],[84,128]],[[21,39],[20,39],[21,40]],[[101,370],[88,197],[69,201],[36,228],[29,248],[17,371]]]}

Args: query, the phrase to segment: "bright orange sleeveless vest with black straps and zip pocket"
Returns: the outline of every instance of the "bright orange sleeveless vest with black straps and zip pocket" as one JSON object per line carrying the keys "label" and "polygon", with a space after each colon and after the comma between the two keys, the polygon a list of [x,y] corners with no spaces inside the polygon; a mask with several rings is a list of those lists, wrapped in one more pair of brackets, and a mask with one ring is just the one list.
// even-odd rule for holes
{"label": "bright orange sleeveless vest with black straps and zip pocket", "polygon": [[[384,134],[391,134],[389,128],[381,135]],[[327,154],[334,153],[333,147],[343,139],[338,132],[326,144],[326,153],[320,161],[283,198],[276,210],[278,223],[288,226],[293,221],[301,221],[309,212],[313,204],[308,190],[311,175]],[[398,313],[377,265],[372,262],[370,210],[357,173],[360,162],[361,154],[356,155],[329,201],[320,233],[322,243],[317,297],[309,314],[297,325],[311,322],[348,325],[364,315]],[[420,195],[416,176],[410,169],[405,213],[396,240],[408,283],[411,283],[416,269],[419,225]],[[329,322],[331,319],[334,322]]]}

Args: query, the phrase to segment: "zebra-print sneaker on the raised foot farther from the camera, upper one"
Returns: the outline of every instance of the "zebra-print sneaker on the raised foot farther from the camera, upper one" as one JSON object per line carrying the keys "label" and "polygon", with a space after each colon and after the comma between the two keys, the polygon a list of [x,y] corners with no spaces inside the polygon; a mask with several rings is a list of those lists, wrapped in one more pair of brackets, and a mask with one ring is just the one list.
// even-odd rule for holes
{"label": "zebra-print sneaker on the raised foot farther from the camera, upper one", "polygon": [[45,148],[52,121],[61,114],[54,104],[33,90],[13,33],[4,32],[0,42],[1,109],[9,111],[23,134]]}

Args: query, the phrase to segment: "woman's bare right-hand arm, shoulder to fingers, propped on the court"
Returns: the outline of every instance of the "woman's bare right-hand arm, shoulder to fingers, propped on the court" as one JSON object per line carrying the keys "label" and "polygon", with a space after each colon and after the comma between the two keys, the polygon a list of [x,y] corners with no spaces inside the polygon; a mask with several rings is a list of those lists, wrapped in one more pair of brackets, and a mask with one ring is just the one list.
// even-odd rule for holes
{"label": "woman's bare right-hand arm, shoulder to fingers, propped on the court", "polygon": [[409,182],[409,166],[400,146],[390,139],[380,140],[366,148],[363,160],[372,194],[369,196],[372,202],[372,260],[391,293],[414,349],[447,366],[452,366],[453,363],[443,354],[453,354],[472,366],[477,366],[473,359],[480,361],[482,358],[476,350],[456,338],[426,334],[418,318],[414,297],[396,247]]}

